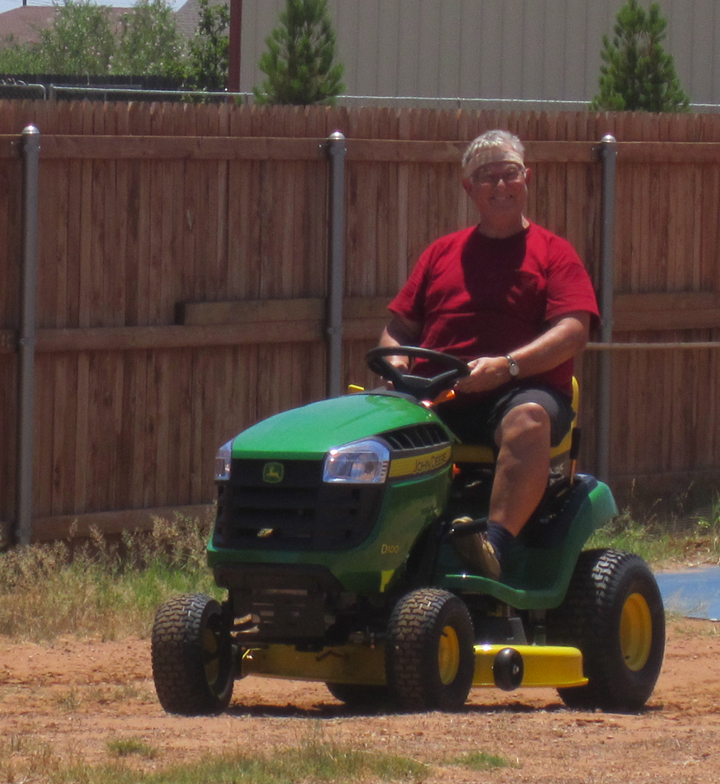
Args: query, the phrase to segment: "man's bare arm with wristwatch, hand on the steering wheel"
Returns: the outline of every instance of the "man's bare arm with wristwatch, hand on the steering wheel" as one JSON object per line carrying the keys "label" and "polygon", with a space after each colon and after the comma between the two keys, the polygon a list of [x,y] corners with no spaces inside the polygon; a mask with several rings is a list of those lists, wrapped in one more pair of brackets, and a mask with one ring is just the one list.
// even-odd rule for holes
{"label": "man's bare arm with wristwatch, hand on the steering wheel", "polygon": [[510,356],[517,363],[518,375],[510,375],[506,357],[479,357],[468,363],[470,375],[455,384],[458,392],[489,392],[510,380],[546,373],[579,354],[590,336],[591,314],[584,310],[558,316],[545,332]]}

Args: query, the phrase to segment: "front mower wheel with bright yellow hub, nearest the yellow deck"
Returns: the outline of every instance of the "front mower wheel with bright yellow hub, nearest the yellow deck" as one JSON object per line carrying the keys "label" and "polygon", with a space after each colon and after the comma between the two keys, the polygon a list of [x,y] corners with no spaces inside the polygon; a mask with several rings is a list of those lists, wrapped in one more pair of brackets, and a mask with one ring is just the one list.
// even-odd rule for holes
{"label": "front mower wheel with bright yellow hub, nearest the yellow deck", "polygon": [[475,673],[473,625],[465,603],[435,588],[403,596],[388,623],[388,688],[408,710],[455,711]]}

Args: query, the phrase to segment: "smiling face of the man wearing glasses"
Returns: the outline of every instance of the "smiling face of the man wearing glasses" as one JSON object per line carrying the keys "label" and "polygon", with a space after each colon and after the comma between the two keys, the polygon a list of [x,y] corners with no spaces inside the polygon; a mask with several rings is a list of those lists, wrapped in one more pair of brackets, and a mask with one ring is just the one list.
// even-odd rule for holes
{"label": "smiling face of the man wearing glasses", "polygon": [[529,174],[529,169],[514,161],[497,161],[476,169],[463,180],[463,188],[478,208],[481,219],[519,217],[527,204]]}

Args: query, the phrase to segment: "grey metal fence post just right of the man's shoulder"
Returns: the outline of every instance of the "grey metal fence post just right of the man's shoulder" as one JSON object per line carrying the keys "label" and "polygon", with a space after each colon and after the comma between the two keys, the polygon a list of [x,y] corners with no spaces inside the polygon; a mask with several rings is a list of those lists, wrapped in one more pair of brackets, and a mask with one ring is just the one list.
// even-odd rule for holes
{"label": "grey metal fence post just right of the man's shoulder", "polygon": [[[601,251],[600,251],[600,340],[612,343],[613,272],[615,245],[615,165],[617,140],[607,134],[600,142],[602,161]],[[597,474],[607,481],[610,476],[610,396],[612,352],[600,352],[597,405]]]}

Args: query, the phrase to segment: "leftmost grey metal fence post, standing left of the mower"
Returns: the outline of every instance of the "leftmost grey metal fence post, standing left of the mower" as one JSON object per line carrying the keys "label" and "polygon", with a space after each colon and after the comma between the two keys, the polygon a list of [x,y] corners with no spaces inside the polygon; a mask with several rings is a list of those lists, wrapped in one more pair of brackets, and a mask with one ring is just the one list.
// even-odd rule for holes
{"label": "leftmost grey metal fence post, standing left of the mower", "polygon": [[18,336],[18,465],[16,500],[16,536],[19,544],[30,544],[32,539],[39,158],[40,131],[34,125],[28,125],[22,132],[23,255],[20,333]]}

